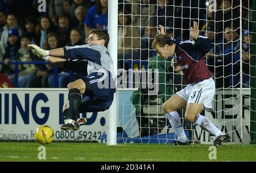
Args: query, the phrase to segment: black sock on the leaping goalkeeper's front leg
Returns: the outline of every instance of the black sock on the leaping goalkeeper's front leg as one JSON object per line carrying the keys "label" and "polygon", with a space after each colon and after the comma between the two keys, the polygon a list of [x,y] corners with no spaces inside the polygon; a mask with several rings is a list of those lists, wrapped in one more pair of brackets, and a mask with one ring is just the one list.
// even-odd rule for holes
{"label": "black sock on the leaping goalkeeper's front leg", "polygon": [[81,93],[79,89],[72,88],[69,90],[69,113],[72,120],[77,120],[79,116],[79,107],[81,104]]}

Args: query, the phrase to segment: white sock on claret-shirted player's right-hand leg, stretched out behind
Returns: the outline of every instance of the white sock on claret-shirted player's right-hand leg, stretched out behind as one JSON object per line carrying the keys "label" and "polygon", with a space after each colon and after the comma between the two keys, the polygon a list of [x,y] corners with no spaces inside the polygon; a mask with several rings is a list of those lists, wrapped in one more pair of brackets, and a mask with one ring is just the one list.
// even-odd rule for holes
{"label": "white sock on claret-shirted player's right-hand leg, stretched out behind", "polygon": [[196,115],[195,124],[207,130],[207,132],[209,132],[210,134],[213,134],[214,136],[220,136],[225,134],[221,132],[221,130],[219,130],[217,126],[215,126],[212,122],[210,122],[210,120],[207,117],[203,115],[200,115],[200,114]]}

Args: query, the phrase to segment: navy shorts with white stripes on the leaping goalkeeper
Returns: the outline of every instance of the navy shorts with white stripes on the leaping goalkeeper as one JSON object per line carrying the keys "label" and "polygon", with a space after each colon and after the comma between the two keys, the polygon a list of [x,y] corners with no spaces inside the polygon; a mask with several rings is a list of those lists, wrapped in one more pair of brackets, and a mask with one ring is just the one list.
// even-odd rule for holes
{"label": "navy shorts with white stripes on the leaping goalkeeper", "polygon": [[111,73],[91,73],[81,78],[85,82],[85,94],[79,112],[101,112],[109,109],[114,98],[115,81]]}

